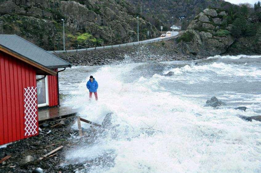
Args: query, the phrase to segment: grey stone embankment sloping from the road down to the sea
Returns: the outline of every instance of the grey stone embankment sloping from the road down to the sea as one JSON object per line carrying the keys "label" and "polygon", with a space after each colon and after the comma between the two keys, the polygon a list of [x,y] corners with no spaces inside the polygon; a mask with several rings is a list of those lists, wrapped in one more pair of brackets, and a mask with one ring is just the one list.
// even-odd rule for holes
{"label": "grey stone embankment sloping from the road down to the sea", "polygon": [[196,60],[203,56],[187,54],[179,48],[175,39],[144,44],[132,47],[112,48],[103,50],[55,53],[54,55],[66,60],[74,66],[78,65],[108,65],[120,62],[147,62]]}

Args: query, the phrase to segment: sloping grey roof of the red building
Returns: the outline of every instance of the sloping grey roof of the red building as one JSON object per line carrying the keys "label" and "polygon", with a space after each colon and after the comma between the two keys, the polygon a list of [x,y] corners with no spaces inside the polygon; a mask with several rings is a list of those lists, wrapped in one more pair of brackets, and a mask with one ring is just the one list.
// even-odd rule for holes
{"label": "sloping grey roof of the red building", "polygon": [[71,67],[70,63],[26,41],[17,35],[1,35],[0,45],[48,68]]}

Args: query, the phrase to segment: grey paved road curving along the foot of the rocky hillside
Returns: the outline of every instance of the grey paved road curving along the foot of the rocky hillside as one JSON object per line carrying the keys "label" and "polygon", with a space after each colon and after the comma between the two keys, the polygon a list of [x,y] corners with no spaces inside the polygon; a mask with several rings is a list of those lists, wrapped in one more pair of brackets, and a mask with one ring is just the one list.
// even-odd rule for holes
{"label": "grey paved road curving along the foot of the rocky hillside", "polygon": [[95,47],[95,48],[86,48],[86,49],[75,49],[75,50],[66,50],[66,51],[48,51],[50,53],[60,53],[60,52],[78,52],[78,51],[88,51],[88,50],[96,50],[96,49],[109,49],[109,48],[118,48],[118,47],[126,47],[126,46],[133,46],[137,44],[146,44],[146,43],[154,43],[158,41],[163,41],[163,40],[169,40],[172,37],[175,37],[179,34],[179,32],[173,32],[171,31],[170,34],[166,34],[166,37],[158,37],[158,38],[153,38],[149,40],[143,40],[143,41],[136,41],[136,42],[131,42],[131,43],[126,43],[126,44],[116,44],[116,45],[111,45],[111,46],[100,46],[100,47]]}

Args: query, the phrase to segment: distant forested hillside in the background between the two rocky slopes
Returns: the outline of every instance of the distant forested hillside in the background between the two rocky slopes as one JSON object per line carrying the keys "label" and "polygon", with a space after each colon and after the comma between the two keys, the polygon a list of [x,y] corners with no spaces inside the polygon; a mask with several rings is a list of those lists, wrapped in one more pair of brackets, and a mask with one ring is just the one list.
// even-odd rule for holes
{"label": "distant forested hillside in the background between the two rocky slopes", "polygon": [[[128,0],[135,6],[135,12],[140,14],[142,8],[142,16],[149,20],[157,29],[164,26],[164,30],[169,30],[172,25],[172,16],[174,23],[179,25],[179,17],[185,16],[186,22],[191,21],[202,10],[211,7],[221,7],[227,2],[223,0]],[[184,25],[187,25],[185,23]]]}

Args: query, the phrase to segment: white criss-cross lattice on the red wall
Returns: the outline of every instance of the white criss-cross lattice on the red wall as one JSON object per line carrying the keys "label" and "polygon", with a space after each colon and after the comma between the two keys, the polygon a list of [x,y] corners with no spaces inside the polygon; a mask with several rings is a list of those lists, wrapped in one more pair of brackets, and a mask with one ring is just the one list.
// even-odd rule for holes
{"label": "white criss-cross lattice on the red wall", "polygon": [[36,125],[36,101],[37,101],[37,87],[27,87],[24,88],[25,99],[24,99],[24,107],[25,107],[25,136],[32,136],[37,133],[37,125]]}

